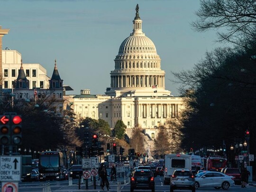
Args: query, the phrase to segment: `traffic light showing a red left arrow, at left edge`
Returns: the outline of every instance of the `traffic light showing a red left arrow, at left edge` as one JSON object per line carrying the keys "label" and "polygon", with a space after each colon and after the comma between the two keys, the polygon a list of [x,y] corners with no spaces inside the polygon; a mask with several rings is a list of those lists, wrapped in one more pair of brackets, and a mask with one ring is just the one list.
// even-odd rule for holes
{"label": "traffic light showing a red left arrow, at left edge", "polygon": [[10,144],[10,123],[9,115],[0,116],[0,144],[9,145]]}

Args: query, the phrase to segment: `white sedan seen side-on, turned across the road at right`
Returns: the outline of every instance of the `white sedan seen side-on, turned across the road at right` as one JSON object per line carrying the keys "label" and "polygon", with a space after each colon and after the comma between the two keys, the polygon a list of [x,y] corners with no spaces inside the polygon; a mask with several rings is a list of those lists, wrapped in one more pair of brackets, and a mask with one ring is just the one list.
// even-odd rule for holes
{"label": "white sedan seen side-on, turned across the road at right", "polygon": [[229,189],[229,186],[234,186],[233,176],[228,176],[216,171],[201,172],[195,175],[195,188],[199,187],[214,187],[215,189]]}

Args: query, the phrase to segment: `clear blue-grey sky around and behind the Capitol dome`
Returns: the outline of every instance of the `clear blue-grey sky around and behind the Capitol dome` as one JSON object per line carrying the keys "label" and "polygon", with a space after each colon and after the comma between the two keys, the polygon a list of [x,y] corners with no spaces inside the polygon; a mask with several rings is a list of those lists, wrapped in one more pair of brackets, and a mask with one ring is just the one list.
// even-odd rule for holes
{"label": "clear blue-grey sky around and behind the Capitol dome", "polygon": [[142,30],[162,59],[166,90],[177,96],[170,71],[192,68],[219,46],[214,31],[192,30],[199,0],[0,0],[0,25],[10,29],[2,48],[18,50],[23,63],[40,63],[50,77],[56,58],[64,84],[74,89],[67,94],[104,94],[137,3]]}

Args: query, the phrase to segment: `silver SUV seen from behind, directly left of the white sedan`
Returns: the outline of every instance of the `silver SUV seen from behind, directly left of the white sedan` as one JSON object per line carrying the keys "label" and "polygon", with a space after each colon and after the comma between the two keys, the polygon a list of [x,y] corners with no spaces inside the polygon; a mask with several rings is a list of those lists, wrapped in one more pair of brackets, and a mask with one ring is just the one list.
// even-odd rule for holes
{"label": "silver SUV seen from behind, directly left of the white sedan", "polygon": [[170,192],[175,189],[189,189],[195,192],[195,176],[189,169],[176,169],[170,179]]}

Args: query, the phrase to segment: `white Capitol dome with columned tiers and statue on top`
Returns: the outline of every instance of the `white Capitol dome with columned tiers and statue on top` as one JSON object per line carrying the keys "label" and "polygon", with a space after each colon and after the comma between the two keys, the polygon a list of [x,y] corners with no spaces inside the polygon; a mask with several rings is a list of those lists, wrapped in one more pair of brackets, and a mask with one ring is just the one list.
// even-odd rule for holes
{"label": "white Capitol dome with columned tiers and statue on top", "polygon": [[142,32],[138,5],[133,32],[121,43],[114,61],[115,69],[110,72],[107,95],[119,96],[128,92],[137,96],[152,95],[152,92],[170,95],[170,91],[165,90],[165,71],[161,69],[161,58],[155,44]]}

